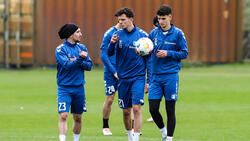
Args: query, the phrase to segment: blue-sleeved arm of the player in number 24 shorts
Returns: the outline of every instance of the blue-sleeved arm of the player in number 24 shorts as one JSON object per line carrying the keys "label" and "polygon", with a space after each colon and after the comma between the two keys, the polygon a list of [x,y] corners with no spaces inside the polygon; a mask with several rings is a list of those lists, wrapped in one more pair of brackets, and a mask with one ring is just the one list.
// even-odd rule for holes
{"label": "blue-sleeved arm of the player in number 24 shorts", "polygon": [[110,38],[103,38],[102,45],[101,45],[101,60],[103,64],[108,68],[109,71],[111,71],[113,74],[116,73],[115,67],[111,64],[108,56],[108,45]]}

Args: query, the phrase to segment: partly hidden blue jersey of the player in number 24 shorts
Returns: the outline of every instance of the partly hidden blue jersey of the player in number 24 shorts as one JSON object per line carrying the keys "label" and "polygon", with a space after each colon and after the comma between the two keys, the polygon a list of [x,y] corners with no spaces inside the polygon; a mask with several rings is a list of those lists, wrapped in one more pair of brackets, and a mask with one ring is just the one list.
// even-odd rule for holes
{"label": "partly hidden blue jersey of the player in number 24 shorts", "polygon": [[112,56],[108,56],[108,46],[109,46],[110,39],[112,38],[113,33],[116,31],[117,31],[117,28],[115,26],[107,30],[103,36],[102,45],[100,47],[101,59],[104,64],[104,72],[112,73],[112,75],[116,73],[115,54]]}

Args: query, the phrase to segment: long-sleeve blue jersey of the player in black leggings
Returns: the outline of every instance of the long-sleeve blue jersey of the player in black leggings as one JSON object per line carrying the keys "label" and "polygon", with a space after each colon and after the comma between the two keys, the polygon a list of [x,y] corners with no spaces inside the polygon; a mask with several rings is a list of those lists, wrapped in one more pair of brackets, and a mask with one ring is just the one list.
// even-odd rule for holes
{"label": "long-sleeve blue jersey of the player in black leggings", "polygon": [[[181,69],[181,60],[188,56],[187,42],[182,30],[171,24],[171,28],[163,33],[159,25],[150,32],[149,38],[154,43],[151,54],[152,74],[178,73]],[[167,56],[158,58],[157,50],[166,50]]]}

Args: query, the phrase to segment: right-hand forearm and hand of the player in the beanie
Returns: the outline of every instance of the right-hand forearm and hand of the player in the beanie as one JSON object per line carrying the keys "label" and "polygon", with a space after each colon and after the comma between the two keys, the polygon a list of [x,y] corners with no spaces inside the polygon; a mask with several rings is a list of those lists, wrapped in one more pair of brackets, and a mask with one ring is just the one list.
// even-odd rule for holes
{"label": "right-hand forearm and hand of the player in the beanie", "polygon": [[79,50],[79,58],[83,58],[79,61],[79,63],[81,64],[81,69],[90,71],[92,69],[93,63],[88,55],[87,49],[83,51]]}

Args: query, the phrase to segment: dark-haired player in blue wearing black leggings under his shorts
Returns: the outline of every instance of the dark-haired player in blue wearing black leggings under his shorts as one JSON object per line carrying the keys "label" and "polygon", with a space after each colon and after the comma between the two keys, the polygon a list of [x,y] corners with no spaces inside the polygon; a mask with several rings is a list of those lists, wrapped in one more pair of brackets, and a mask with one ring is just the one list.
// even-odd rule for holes
{"label": "dark-haired player in blue wearing black leggings under his shorts", "polygon": [[[149,38],[154,43],[151,54],[152,79],[149,86],[149,109],[155,124],[162,133],[162,141],[172,141],[175,129],[175,103],[178,96],[181,60],[188,56],[184,33],[171,24],[171,7],[162,5],[157,10],[158,28],[153,29]],[[165,97],[167,129],[159,112],[162,97]]]}

